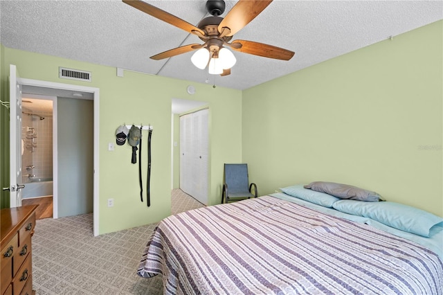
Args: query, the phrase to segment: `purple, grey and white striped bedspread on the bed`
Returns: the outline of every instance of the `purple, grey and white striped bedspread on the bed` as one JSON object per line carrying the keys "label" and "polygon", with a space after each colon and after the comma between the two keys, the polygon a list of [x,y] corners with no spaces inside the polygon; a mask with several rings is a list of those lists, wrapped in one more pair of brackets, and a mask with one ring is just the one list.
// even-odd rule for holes
{"label": "purple, grey and white striped bedspread on the bed", "polygon": [[264,196],[159,223],[139,276],[165,294],[442,294],[443,262],[419,244]]}

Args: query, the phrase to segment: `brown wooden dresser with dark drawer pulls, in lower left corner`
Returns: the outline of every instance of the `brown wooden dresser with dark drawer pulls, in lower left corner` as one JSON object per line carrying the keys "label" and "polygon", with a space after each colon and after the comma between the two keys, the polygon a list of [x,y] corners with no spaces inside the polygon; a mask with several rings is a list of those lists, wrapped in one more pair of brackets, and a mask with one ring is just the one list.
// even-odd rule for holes
{"label": "brown wooden dresser with dark drawer pulls, in lower left corner", "polygon": [[38,205],[1,209],[0,294],[33,293],[31,237]]}

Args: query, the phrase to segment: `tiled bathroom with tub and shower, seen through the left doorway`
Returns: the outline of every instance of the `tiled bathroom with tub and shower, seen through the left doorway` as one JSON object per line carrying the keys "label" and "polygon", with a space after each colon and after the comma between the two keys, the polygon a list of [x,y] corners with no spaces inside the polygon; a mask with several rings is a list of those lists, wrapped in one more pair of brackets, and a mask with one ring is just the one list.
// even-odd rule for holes
{"label": "tiled bathroom with tub and shower, seen through the left doorway", "polygon": [[23,98],[22,204],[39,204],[37,219],[53,217],[53,101]]}

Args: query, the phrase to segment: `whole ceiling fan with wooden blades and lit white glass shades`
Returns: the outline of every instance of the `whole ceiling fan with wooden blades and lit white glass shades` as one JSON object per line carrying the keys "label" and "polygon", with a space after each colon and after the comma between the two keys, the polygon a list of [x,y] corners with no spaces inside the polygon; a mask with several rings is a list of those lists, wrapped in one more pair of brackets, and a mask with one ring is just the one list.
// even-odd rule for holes
{"label": "whole ceiling fan with wooden blades and lit white glass shades", "polygon": [[206,9],[212,16],[202,19],[197,26],[141,0],[123,0],[123,2],[172,26],[197,35],[204,41],[204,44],[188,44],[153,55],[150,57],[153,60],[163,60],[197,50],[191,58],[195,66],[199,69],[208,66],[210,74],[229,75],[230,68],[235,64],[235,57],[226,47],[277,60],[290,60],[294,55],[293,51],[269,44],[247,40],[230,42],[233,35],[260,15],[272,0],[239,0],[224,18],[219,17],[225,9],[224,0],[209,0],[206,2]]}

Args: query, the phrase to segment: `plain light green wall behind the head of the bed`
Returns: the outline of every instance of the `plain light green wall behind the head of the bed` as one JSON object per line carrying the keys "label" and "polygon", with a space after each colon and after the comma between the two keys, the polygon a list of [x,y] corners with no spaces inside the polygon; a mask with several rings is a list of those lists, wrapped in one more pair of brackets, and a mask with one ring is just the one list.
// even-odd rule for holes
{"label": "plain light green wall behind the head of the bed", "polygon": [[442,216],[442,24],[244,91],[243,161],[260,195],[334,181]]}

